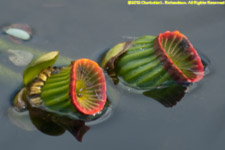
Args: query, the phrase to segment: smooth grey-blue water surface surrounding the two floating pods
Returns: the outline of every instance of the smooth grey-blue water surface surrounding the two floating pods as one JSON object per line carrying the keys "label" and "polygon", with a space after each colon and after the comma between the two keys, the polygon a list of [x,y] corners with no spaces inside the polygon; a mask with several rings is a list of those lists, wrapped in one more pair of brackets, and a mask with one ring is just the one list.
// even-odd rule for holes
{"label": "smooth grey-blue water surface surrounding the two floating pods", "polygon": [[7,109],[17,87],[0,84],[0,149],[224,149],[224,14],[224,6],[128,6],[126,0],[1,0],[1,24],[22,22],[35,29],[34,38],[25,45],[57,49],[74,59],[97,60],[105,49],[120,41],[180,30],[212,64],[211,73],[172,108],[120,91],[114,95],[118,104],[112,116],[91,126],[82,143],[69,132],[48,136],[16,127]]}

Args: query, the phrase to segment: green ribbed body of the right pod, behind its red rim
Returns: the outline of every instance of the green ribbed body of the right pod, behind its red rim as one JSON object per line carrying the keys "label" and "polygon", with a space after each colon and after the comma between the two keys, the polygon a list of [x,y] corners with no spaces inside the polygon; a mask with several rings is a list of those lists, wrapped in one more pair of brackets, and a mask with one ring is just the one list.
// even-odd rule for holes
{"label": "green ribbed body of the right pod, behind its red rim", "polygon": [[140,37],[119,58],[116,72],[126,85],[144,90],[174,83],[155,54],[154,39],[154,36]]}

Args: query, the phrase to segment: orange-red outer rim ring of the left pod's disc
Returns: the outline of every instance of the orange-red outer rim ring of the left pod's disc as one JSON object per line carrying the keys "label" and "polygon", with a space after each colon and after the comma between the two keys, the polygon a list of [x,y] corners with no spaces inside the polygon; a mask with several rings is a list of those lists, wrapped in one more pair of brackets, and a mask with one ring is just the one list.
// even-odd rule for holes
{"label": "orange-red outer rim ring of the left pod's disc", "polygon": [[[98,103],[99,107],[96,107],[95,109],[92,109],[92,110],[87,110],[87,109],[83,108],[79,104],[79,102],[77,101],[77,96],[76,96],[77,66],[78,66],[78,64],[84,63],[84,62],[90,63],[91,65],[94,66],[94,71],[99,72],[99,74],[101,76],[100,82],[103,84],[102,92],[101,92],[102,99]],[[70,79],[70,98],[71,98],[71,101],[72,101],[73,105],[78,109],[78,111],[80,111],[81,113],[83,113],[85,115],[94,115],[94,114],[100,112],[104,108],[105,103],[106,103],[106,99],[107,99],[107,96],[106,96],[106,81],[105,81],[105,76],[104,76],[103,70],[99,67],[99,65],[96,62],[94,62],[90,59],[78,59],[75,62],[73,62],[73,66],[72,66],[72,69],[71,69],[71,79]]]}

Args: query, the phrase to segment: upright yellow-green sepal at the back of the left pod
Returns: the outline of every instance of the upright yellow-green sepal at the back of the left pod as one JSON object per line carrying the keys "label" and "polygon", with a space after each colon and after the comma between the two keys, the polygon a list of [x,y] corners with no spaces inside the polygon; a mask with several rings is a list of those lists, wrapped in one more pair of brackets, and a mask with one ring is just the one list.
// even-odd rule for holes
{"label": "upright yellow-green sepal at the back of the left pod", "polygon": [[23,73],[24,84],[27,85],[43,69],[51,67],[56,62],[58,56],[58,51],[52,51],[38,57],[36,60],[31,62],[31,64],[25,69]]}

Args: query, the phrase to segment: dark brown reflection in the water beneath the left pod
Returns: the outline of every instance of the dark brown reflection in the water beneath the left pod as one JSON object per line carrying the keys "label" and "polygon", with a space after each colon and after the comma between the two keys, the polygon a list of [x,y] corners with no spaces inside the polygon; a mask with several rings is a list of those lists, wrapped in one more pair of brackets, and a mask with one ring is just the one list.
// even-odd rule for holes
{"label": "dark brown reflection in the water beneath the left pod", "polygon": [[30,119],[35,127],[48,135],[57,136],[69,131],[78,141],[90,129],[84,121],[62,117],[38,108],[29,109]]}

